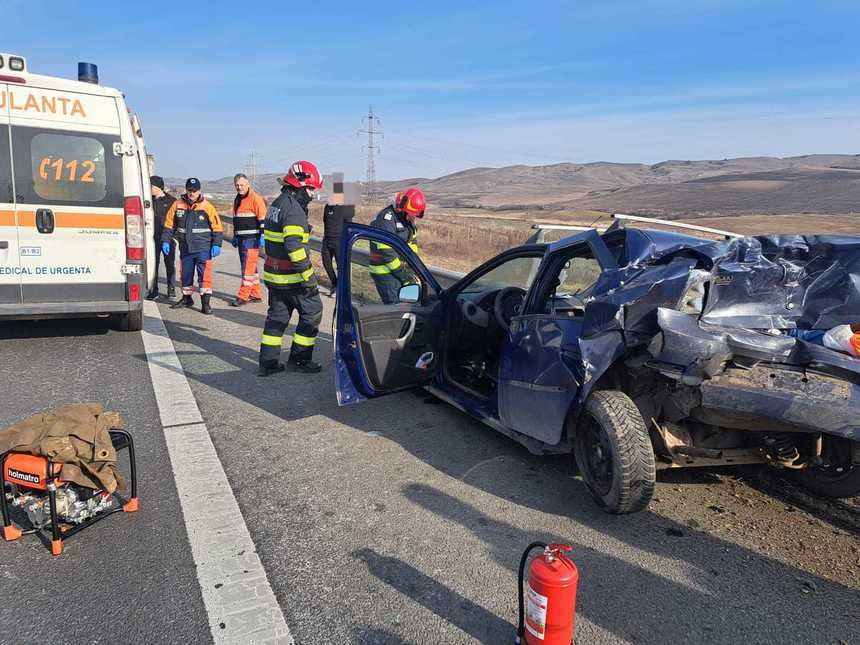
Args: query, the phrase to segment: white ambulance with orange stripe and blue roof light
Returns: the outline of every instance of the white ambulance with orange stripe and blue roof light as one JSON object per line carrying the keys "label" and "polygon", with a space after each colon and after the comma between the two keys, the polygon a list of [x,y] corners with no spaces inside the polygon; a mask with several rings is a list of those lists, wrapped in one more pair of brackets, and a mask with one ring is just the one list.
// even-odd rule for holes
{"label": "white ambulance with orange stripe and blue roof light", "polygon": [[141,329],[153,226],[143,133],[122,92],[95,65],[69,80],[0,53],[0,321],[110,316]]}

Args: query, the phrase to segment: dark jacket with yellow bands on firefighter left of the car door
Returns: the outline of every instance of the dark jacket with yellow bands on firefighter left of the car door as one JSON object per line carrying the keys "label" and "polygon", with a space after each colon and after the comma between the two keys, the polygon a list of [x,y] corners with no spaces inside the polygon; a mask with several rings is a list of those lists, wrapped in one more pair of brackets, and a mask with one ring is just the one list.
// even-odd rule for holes
{"label": "dark jacket with yellow bands on firefighter left of the car door", "polygon": [[266,213],[263,282],[267,287],[295,289],[316,286],[308,254],[310,237],[307,211],[296,199],[293,189],[285,187]]}

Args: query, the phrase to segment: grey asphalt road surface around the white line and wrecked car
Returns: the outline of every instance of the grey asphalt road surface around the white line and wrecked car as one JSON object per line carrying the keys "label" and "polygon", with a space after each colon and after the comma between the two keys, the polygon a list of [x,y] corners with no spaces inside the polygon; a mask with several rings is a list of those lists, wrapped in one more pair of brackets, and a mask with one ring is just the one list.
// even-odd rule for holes
{"label": "grey asphalt road surface around the white line and wrecked car", "polygon": [[[573,545],[577,643],[857,641],[856,503],[725,469],[661,473],[648,511],[606,515],[570,459],[532,456],[423,392],[339,408],[332,299],[323,372],[256,377],[265,307],[227,306],[238,268],[225,248],[214,316],[160,310],[296,642],[511,643],[533,540]],[[59,558],[33,537],[0,543],[0,641],[217,637],[146,361],[140,334],[101,321],[0,323],[0,426],[103,402],[135,436],[141,497]]]}

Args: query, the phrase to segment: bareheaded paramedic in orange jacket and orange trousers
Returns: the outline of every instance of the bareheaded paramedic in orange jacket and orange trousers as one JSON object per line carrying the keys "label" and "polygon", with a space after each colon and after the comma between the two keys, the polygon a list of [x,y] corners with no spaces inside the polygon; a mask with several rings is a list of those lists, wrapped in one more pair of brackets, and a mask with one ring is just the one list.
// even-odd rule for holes
{"label": "bareheaded paramedic in orange jacket and orange trousers", "polygon": [[251,189],[251,182],[242,173],[233,177],[236,198],[233,200],[233,246],[239,249],[242,282],[236,299],[230,305],[241,307],[249,301],[263,299],[257,261],[260,258],[260,237],[266,220],[266,202]]}

